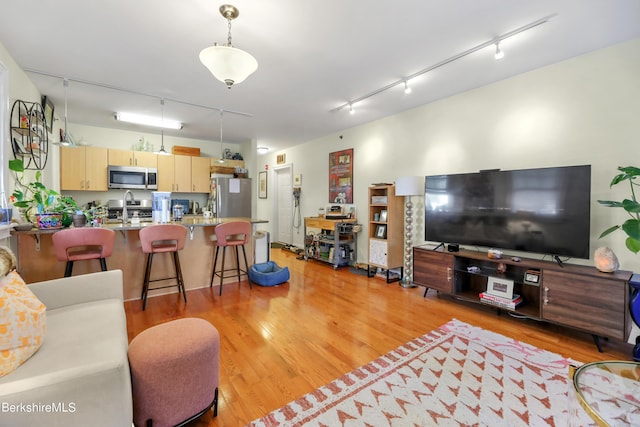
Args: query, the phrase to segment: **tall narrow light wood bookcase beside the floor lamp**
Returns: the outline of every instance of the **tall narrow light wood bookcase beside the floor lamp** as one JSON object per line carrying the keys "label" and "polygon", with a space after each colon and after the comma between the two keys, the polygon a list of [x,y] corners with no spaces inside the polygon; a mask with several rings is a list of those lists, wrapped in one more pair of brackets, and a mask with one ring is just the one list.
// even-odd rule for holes
{"label": "tall narrow light wood bookcase beside the floor lamp", "polygon": [[369,265],[402,268],[402,198],[395,185],[369,187]]}

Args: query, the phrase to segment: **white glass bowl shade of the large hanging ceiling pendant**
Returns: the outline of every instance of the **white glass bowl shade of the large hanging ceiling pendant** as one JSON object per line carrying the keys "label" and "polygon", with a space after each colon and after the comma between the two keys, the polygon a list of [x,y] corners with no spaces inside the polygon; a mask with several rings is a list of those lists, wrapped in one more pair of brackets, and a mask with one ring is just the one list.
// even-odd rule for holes
{"label": "white glass bowl shade of the large hanging ceiling pendant", "polygon": [[200,61],[229,87],[244,81],[258,69],[258,61],[251,54],[232,46],[207,47],[200,52]]}

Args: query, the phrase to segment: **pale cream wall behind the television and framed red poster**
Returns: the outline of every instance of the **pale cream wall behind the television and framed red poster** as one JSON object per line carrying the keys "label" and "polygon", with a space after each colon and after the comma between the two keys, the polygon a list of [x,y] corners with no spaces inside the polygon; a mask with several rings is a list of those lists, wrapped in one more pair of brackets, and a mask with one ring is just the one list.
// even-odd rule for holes
{"label": "pale cream wall behind the television and framed red poster", "polygon": [[[640,166],[639,75],[640,40],[634,40],[268,153],[258,158],[258,169],[272,169],[276,155],[285,153],[293,173],[303,175],[302,216],[315,216],[329,202],[328,154],[353,148],[354,197],[365,226],[358,261],[366,263],[372,183],[404,175],[591,164],[591,251],[609,246],[623,269],[638,271],[639,259],[626,250],[621,233],[598,239],[625,216],[597,200],[626,197],[627,188],[610,190],[609,183],[618,166]],[[271,203],[258,200],[257,215],[272,223]],[[417,236],[424,234],[422,206],[415,209]],[[303,229],[294,233],[294,243],[303,246],[303,237]]]}

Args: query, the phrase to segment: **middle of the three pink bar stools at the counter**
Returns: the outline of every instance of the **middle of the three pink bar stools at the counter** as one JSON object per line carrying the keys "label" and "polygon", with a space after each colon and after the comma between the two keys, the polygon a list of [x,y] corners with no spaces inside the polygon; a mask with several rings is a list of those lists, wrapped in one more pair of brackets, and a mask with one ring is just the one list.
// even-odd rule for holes
{"label": "middle of the three pink bar stools at the counter", "polygon": [[[140,229],[140,243],[142,243],[142,252],[147,254],[147,266],[144,271],[144,282],[142,285],[142,309],[147,306],[147,294],[149,291],[156,289],[170,288],[178,286],[178,293],[182,292],[184,302],[187,302],[187,293],[184,289],[184,280],[182,279],[182,270],[180,269],[180,258],[178,251],[184,248],[187,239],[187,227],[179,224],[157,224],[148,225]],[[175,276],[164,277],[162,279],[149,280],[151,275],[151,264],[153,255],[157,253],[173,254],[173,267],[176,272]],[[163,280],[176,279],[176,285],[158,286],[149,288],[150,282],[160,282]]]}

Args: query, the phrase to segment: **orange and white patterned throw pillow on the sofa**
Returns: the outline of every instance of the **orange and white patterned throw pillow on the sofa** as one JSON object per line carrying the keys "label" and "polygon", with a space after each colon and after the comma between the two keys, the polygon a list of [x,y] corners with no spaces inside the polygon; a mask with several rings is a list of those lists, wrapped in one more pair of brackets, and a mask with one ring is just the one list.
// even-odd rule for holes
{"label": "orange and white patterned throw pillow on the sofa", "polygon": [[45,310],[16,271],[0,279],[0,377],[40,348],[47,330]]}

